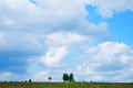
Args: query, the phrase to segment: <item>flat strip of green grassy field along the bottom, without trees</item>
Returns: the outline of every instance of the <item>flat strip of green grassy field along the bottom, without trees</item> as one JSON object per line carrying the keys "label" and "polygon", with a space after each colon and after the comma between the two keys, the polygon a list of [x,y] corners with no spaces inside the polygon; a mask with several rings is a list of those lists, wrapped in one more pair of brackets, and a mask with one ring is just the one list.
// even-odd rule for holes
{"label": "flat strip of green grassy field along the bottom, without trees", "polygon": [[133,84],[0,82],[0,88],[133,88]]}

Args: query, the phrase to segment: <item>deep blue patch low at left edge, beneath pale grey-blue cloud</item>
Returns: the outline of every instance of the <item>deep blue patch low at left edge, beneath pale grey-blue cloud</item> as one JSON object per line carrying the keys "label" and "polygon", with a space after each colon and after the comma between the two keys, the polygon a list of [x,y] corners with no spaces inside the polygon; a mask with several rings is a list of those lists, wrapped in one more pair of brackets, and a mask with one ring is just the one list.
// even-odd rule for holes
{"label": "deep blue patch low at left edge, beneath pale grey-blue cloud", "polygon": [[24,74],[27,73],[27,56],[8,56],[8,54],[0,55],[0,73],[11,72]]}

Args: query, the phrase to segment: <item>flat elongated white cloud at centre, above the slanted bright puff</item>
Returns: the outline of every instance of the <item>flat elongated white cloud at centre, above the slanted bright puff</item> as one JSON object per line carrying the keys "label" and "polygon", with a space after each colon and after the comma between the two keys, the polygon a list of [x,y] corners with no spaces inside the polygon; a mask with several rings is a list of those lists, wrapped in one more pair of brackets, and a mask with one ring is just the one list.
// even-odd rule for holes
{"label": "flat elongated white cloud at centre, above the slanted bright puff", "polygon": [[86,40],[91,40],[90,37],[85,36],[85,35],[80,35],[76,33],[64,33],[64,32],[57,32],[57,33],[52,33],[49,34],[47,36],[45,43],[49,45],[71,45],[71,44],[75,44],[78,42],[83,42]]}

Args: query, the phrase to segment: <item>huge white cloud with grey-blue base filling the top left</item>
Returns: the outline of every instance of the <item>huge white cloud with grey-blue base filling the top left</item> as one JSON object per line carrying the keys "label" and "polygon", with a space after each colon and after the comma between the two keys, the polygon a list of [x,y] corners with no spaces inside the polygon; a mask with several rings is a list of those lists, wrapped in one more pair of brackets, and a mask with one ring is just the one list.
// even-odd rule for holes
{"label": "huge white cloud with grey-blue base filling the top left", "polygon": [[[99,36],[103,33],[102,36],[105,35],[106,37],[109,33],[106,33],[108,29],[101,25],[103,23],[96,25],[85,21],[88,12],[83,2],[83,0],[78,0],[76,2],[72,0],[38,0],[37,7],[28,0],[1,1],[0,4],[4,6],[0,7],[0,18],[10,16],[11,19],[8,21],[10,21],[10,24],[13,24],[13,26],[7,28],[3,25],[2,28],[27,32],[41,32],[44,34],[69,31],[92,35],[96,33],[95,35],[98,35],[100,32]],[[94,29],[91,28],[92,25]],[[99,26],[103,28],[99,29]],[[93,30],[98,32],[92,32]]]}

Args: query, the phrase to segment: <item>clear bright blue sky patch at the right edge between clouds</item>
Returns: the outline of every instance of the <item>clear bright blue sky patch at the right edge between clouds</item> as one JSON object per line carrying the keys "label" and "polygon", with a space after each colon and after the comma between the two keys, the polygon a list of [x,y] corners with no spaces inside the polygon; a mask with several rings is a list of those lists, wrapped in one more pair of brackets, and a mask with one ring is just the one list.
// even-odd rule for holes
{"label": "clear bright blue sky patch at the right edge between clouds", "polygon": [[133,45],[133,12],[125,11],[113,15],[112,19],[106,20],[112,38],[116,42],[122,42]]}

